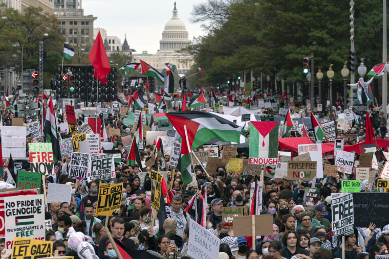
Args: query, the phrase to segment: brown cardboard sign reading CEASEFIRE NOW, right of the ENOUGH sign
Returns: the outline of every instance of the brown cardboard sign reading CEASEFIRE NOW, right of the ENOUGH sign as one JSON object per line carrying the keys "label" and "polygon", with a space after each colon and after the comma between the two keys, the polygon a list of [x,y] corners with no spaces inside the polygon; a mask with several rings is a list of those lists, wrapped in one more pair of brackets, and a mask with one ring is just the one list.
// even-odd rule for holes
{"label": "brown cardboard sign reading CEASEFIRE NOW, right of the ENOUGH sign", "polygon": [[316,161],[288,161],[288,180],[313,180],[316,176]]}

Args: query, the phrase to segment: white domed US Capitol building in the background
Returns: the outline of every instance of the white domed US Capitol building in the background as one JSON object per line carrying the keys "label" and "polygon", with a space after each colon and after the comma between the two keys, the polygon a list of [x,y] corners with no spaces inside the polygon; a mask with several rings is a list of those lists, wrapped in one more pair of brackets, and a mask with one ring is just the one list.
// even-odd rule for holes
{"label": "white domed US Capitol building in the background", "polygon": [[173,17],[166,23],[162,32],[162,39],[159,41],[159,50],[157,54],[148,54],[143,51],[142,54],[133,53],[134,62],[140,62],[139,59],[150,64],[162,72],[167,69],[165,63],[172,63],[177,66],[177,73],[183,76],[193,65],[191,55],[183,55],[177,51],[190,44],[188,32],[184,23],[178,18],[176,3],[174,4]]}

